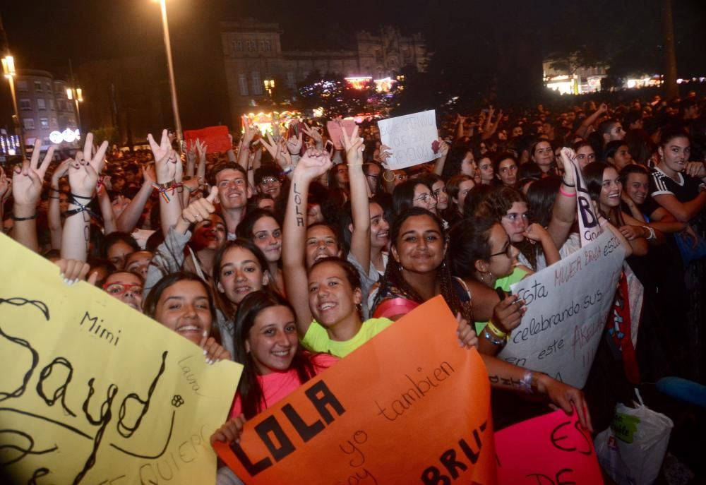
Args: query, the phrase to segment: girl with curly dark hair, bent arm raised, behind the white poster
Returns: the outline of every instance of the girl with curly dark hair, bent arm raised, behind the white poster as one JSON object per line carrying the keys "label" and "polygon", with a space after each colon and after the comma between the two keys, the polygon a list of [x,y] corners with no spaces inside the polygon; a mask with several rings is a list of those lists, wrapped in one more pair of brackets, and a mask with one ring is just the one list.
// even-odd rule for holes
{"label": "girl with curly dark hair, bent arm raised, behind the white poster", "polygon": [[[531,270],[537,268],[537,254],[540,251],[544,253],[547,265],[561,259],[549,232],[536,222],[530,223],[527,198],[522,192],[512,187],[499,186],[486,196],[477,214],[493,217],[502,224],[510,236],[511,244],[525,256]],[[535,245],[538,241],[541,249]]]}

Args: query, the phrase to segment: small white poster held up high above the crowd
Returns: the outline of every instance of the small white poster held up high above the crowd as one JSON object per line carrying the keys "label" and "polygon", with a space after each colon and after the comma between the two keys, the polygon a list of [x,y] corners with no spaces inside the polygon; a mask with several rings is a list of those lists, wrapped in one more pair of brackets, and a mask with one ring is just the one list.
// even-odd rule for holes
{"label": "small white poster held up high above the crowd", "polygon": [[378,128],[383,145],[393,152],[385,160],[390,169],[412,167],[441,157],[436,147],[438,131],[433,109],[383,119],[378,121]]}

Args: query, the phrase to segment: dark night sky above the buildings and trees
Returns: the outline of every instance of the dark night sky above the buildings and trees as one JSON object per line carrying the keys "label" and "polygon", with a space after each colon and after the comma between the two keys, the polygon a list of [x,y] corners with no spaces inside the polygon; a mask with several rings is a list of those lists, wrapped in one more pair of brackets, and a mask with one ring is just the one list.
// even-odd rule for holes
{"label": "dark night sky above the buildings and trees", "polygon": [[[705,4],[702,0],[672,3],[680,69],[702,69]],[[458,39],[456,48],[482,54],[489,30],[502,35],[530,32],[542,38],[543,49],[551,49],[552,42],[561,42],[561,36],[556,40],[553,34],[566,28],[562,22],[573,8],[575,25],[570,30],[585,36],[587,44],[610,44],[609,36],[618,32],[623,35],[621,42],[643,35],[644,42],[659,49],[659,4],[659,0],[167,0],[182,118],[196,124],[217,122],[222,116],[222,110],[212,109],[225,100],[219,20],[256,17],[279,22],[285,49],[353,48],[355,30],[397,25],[403,32],[423,32],[432,47],[449,49]],[[40,68],[56,78],[67,78],[68,59],[75,69],[83,61],[135,54],[152,55],[165,64],[156,1],[3,0],[0,13],[18,68]],[[220,88],[204,88],[213,83]]]}

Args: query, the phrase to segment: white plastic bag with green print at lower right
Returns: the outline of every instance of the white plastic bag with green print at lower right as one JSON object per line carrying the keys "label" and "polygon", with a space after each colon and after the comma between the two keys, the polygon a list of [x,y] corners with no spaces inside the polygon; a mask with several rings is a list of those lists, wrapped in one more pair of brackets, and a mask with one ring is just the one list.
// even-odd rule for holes
{"label": "white plastic bag with green print at lower right", "polygon": [[674,423],[645,406],[619,403],[613,422],[594,440],[601,467],[619,485],[650,485],[657,479]]}

